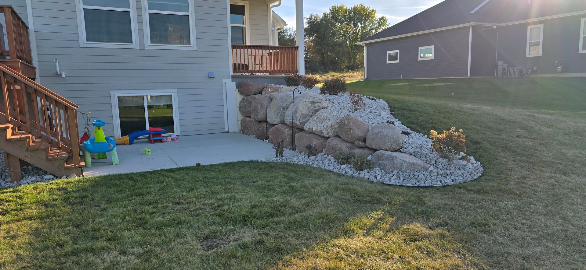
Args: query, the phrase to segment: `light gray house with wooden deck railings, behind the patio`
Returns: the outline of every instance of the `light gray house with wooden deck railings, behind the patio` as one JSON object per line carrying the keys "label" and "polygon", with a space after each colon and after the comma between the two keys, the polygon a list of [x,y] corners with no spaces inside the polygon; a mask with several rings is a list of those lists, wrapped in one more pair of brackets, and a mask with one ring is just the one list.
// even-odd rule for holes
{"label": "light gray house with wooden deck railings, behind the patio", "polygon": [[[303,1],[285,1],[295,1],[303,36]],[[298,46],[275,41],[286,25],[272,12],[280,0],[1,4],[0,122],[36,133],[33,139],[59,147],[67,158],[76,152],[79,136],[74,131],[84,131],[80,111],[106,122],[108,137],[149,127],[183,136],[238,131],[234,89],[240,81],[304,74],[304,40],[298,39]],[[282,76],[272,77],[282,81]],[[31,92],[19,99],[20,91]],[[29,104],[22,103],[25,99]]]}

